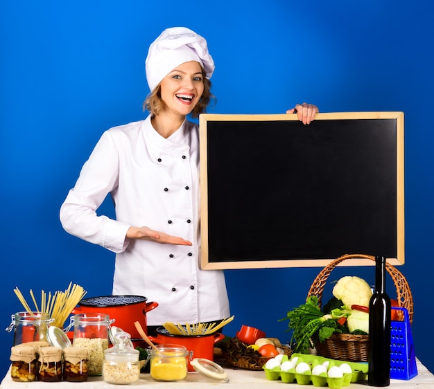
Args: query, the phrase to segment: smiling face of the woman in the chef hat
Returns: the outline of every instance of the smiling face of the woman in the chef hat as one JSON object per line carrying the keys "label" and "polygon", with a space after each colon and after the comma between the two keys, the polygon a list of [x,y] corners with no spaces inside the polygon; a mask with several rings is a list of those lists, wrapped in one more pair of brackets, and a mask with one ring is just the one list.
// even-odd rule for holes
{"label": "smiling face of the woman in the chef hat", "polygon": [[160,83],[166,113],[186,116],[198,104],[204,91],[202,68],[196,61],[184,62]]}

